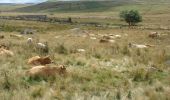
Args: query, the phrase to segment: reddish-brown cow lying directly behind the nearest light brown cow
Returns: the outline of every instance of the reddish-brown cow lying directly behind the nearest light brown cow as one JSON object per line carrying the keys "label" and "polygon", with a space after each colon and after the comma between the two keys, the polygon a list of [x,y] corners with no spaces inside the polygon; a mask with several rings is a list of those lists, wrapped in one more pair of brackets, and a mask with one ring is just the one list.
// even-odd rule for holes
{"label": "reddish-brown cow lying directly behind the nearest light brown cow", "polygon": [[52,61],[49,56],[46,57],[35,56],[28,59],[28,64],[31,65],[46,65],[50,63],[52,63]]}

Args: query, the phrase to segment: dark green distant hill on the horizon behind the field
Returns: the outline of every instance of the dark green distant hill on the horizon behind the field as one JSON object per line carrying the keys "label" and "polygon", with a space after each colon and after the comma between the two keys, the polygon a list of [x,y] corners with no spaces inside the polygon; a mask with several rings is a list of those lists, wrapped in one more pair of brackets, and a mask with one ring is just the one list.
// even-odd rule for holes
{"label": "dark green distant hill on the horizon behind the field", "polygon": [[58,1],[44,2],[37,5],[15,9],[19,12],[70,12],[70,11],[104,11],[106,9],[132,3],[132,0],[112,1]]}

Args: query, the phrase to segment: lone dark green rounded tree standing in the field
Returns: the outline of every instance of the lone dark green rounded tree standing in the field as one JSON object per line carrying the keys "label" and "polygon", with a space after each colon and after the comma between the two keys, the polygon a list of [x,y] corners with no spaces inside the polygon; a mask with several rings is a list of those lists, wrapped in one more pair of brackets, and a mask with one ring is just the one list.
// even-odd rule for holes
{"label": "lone dark green rounded tree standing in the field", "polygon": [[120,18],[126,21],[129,26],[134,26],[142,21],[142,16],[137,10],[125,10],[120,13]]}

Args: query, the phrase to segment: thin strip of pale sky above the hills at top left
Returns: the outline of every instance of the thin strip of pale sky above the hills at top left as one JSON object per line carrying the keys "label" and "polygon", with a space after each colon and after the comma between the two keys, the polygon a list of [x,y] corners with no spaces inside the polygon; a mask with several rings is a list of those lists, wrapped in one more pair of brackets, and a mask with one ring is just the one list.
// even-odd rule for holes
{"label": "thin strip of pale sky above the hills at top left", "polygon": [[0,3],[38,3],[46,0],[0,0]]}

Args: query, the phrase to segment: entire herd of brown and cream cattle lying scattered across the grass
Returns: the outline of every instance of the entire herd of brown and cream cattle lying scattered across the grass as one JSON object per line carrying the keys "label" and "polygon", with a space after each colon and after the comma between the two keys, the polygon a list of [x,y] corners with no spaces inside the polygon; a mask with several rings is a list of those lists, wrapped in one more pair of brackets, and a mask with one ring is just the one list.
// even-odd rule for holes
{"label": "entire herd of brown and cream cattle lying scattered across the grass", "polygon": [[[22,33],[21,33],[22,34]],[[114,43],[115,42],[115,38],[121,38],[121,35],[113,35],[113,34],[107,34],[107,35],[101,35],[99,34],[102,38],[99,40],[99,43]],[[90,39],[97,39],[95,37],[94,34],[88,34],[88,36],[90,37]],[[160,36],[160,34],[158,34],[157,32],[152,32],[150,34],[148,34],[149,38],[158,38]],[[18,35],[18,34],[11,34],[10,35],[11,38],[22,38],[23,35]],[[0,39],[4,39],[5,36],[4,35],[0,35]],[[31,45],[33,44],[33,38],[27,38],[27,40],[25,40],[27,42],[27,44]],[[35,43],[34,43],[35,44]],[[36,43],[36,46],[39,49],[45,49],[47,47],[46,43]],[[142,44],[132,44],[129,43],[129,47],[136,47],[136,48],[148,48],[148,47],[153,47],[153,45],[142,45]],[[85,52],[84,49],[78,49],[78,52]],[[14,56],[14,52],[9,50],[9,47],[6,45],[1,44],[0,45],[0,56],[2,55],[6,55],[6,56]],[[64,65],[52,65],[53,61],[51,60],[51,58],[49,56],[46,57],[40,57],[40,56],[35,56],[32,57],[30,59],[28,59],[28,63],[29,65],[34,65],[34,67],[31,67],[31,69],[29,69],[27,71],[27,74],[31,77],[34,76],[53,76],[55,74],[65,74],[66,73],[66,68]]]}

